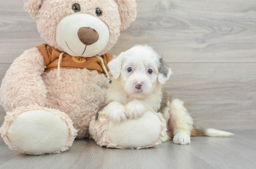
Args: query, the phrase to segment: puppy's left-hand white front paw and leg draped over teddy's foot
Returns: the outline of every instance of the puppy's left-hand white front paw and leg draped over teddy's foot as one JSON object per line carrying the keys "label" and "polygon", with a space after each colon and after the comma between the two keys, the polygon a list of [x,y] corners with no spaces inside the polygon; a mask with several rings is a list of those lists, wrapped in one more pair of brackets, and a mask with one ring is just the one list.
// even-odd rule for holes
{"label": "puppy's left-hand white front paw and leg draped over teddy's foot", "polygon": [[106,105],[104,109],[99,112],[99,117],[102,115],[106,115],[110,120],[113,120],[115,123],[120,123],[121,121],[125,121],[127,119],[125,114],[125,107],[120,102],[113,101]]}

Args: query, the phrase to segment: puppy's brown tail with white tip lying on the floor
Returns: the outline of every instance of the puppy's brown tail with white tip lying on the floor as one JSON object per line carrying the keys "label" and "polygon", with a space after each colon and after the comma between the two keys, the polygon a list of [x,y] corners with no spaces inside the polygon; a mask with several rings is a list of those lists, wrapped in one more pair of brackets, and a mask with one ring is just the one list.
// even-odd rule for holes
{"label": "puppy's brown tail with white tip lying on the floor", "polygon": [[213,128],[200,129],[193,126],[191,136],[211,136],[211,137],[228,137],[234,135],[233,133],[216,130]]}

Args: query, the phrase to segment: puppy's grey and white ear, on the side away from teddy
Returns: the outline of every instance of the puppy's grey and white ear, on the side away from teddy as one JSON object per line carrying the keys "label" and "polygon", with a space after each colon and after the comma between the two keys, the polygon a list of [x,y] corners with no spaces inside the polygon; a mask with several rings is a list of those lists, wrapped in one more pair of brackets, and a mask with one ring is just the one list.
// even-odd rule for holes
{"label": "puppy's grey and white ear, on the side away from teddy", "polygon": [[167,64],[164,62],[162,58],[160,58],[159,60],[161,65],[160,65],[160,70],[158,74],[158,81],[161,84],[165,84],[165,82],[169,80],[169,77],[172,74],[172,69],[168,68]]}

